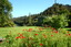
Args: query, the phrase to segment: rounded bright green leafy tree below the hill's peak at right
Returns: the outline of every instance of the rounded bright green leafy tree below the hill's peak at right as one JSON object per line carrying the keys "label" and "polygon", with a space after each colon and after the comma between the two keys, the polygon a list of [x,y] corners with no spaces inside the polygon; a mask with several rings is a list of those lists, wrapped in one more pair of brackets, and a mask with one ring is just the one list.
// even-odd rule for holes
{"label": "rounded bright green leafy tree below the hill's peak at right", "polygon": [[48,16],[47,19],[43,20],[43,23],[47,23],[48,25],[55,28],[62,28],[68,26],[68,22],[69,20],[64,14]]}

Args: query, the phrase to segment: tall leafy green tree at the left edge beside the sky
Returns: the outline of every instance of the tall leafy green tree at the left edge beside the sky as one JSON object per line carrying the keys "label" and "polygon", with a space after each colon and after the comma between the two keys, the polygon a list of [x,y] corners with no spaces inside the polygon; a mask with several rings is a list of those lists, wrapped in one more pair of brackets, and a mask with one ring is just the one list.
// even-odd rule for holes
{"label": "tall leafy green tree at the left edge beside the sky", "polygon": [[11,21],[12,5],[9,0],[0,0],[0,26],[13,26]]}

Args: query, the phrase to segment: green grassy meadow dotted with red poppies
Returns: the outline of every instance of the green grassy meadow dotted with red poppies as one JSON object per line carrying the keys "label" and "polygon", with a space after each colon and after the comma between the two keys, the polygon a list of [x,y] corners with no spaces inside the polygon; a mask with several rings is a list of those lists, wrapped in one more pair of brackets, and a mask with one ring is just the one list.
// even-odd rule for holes
{"label": "green grassy meadow dotted with red poppies", "polygon": [[0,47],[71,47],[71,32],[67,30],[69,28],[0,27],[0,36],[4,38]]}

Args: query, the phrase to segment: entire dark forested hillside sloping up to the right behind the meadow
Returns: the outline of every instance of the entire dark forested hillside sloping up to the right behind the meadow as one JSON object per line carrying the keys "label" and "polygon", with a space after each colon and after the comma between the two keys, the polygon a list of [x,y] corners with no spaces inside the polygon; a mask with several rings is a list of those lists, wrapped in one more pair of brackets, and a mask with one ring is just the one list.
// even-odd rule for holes
{"label": "entire dark forested hillside sloping up to the right behind the meadow", "polygon": [[71,19],[71,5],[69,4],[59,4],[54,3],[52,7],[45,9],[43,12],[40,12],[39,14],[32,14],[29,16],[20,16],[20,17],[14,17],[13,22],[17,25],[41,25],[42,20],[45,16],[49,15],[59,15],[59,14],[68,14],[69,19]]}

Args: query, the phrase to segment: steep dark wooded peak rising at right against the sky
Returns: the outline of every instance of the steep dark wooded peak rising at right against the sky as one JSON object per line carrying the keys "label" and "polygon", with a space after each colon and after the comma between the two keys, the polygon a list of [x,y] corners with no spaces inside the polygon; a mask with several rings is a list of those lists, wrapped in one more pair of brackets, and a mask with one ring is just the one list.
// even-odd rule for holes
{"label": "steep dark wooded peak rising at right against the sky", "polygon": [[69,12],[71,12],[71,5],[54,3],[52,7],[48,8],[40,14],[51,15],[51,14],[62,14],[62,13],[69,13]]}

